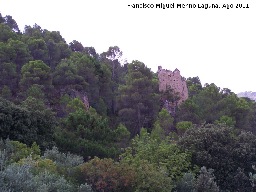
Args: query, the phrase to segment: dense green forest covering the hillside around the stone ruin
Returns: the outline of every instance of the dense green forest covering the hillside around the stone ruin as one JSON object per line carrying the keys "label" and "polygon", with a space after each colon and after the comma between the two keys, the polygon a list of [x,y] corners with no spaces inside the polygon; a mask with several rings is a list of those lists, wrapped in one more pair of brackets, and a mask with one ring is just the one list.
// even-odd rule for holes
{"label": "dense green forest covering the hillside around the stone ruin", "polygon": [[0,191],[256,191],[256,103],[0,13]]}

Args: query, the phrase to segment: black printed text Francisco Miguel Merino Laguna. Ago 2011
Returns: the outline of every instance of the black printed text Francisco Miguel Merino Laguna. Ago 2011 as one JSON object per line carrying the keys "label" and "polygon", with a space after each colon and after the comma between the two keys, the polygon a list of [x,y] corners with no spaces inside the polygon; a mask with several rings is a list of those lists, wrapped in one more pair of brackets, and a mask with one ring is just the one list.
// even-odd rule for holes
{"label": "black printed text Francisco Miguel Merino Laguna. Ago 2011", "polygon": [[[243,4],[223,4],[222,6],[219,6],[218,4],[198,4],[198,7],[195,4],[181,4],[181,3],[177,3],[176,7],[175,4],[156,4],[156,8],[204,8],[204,9],[208,9],[208,8],[249,8],[248,3],[243,3]],[[154,8],[153,4],[130,4],[128,3],[128,8]]]}

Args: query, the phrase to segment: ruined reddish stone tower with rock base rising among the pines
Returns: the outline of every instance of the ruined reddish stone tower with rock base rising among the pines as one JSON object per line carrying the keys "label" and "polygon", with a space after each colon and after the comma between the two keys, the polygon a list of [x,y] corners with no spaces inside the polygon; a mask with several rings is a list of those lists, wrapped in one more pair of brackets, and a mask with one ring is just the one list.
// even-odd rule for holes
{"label": "ruined reddish stone tower with rock base rising among the pines", "polygon": [[175,69],[174,71],[162,69],[160,65],[158,67],[158,78],[159,78],[159,91],[166,91],[166,85],[170,86],[173,91],[172,94],[176,93],[176,98],[173,100],[167,100],[162,96],[160,100],[160,107],[166,109],[172,117],[175,116],[176,109],[179,104],[183,103],[188,99],[188,89],[185,80],[182,80],[180,71]]}

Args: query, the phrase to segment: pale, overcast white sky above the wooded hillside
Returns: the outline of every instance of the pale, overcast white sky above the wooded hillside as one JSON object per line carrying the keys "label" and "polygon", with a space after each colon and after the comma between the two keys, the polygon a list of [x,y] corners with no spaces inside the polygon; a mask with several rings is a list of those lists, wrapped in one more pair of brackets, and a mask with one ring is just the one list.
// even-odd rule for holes
{"label": "pale, overcast white sky above the wooded hillside", "polygon": [[[128,8],[143,3],[154,7]],[[188,3],[196,7],[177,7]],[[205,9],[206,3],[219,8]],[[249,8],[236,8],[236,3],[245,7],[248,3]],[[174,4],[174,8],[156,4]],[[233,8],[228,9],[229,4]],[[99,54],[117,45],[123,59],[138,59],[153,72],[160,65],[177,68],[186,78],[198,76],[202,85],[256,92],[253,0],[12,0],[1,2],[0,11],[11,15],[22,31],[25,25],[37,23],[42,29],[60,31],[68,44],[76,40]]]}

